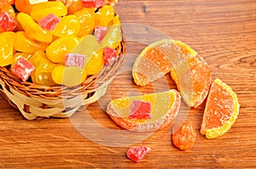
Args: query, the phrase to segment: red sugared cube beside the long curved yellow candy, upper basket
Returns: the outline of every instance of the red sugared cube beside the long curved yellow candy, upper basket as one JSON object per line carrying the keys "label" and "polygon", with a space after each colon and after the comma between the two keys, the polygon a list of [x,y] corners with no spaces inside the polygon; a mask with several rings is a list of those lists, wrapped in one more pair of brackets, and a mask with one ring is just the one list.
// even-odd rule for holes
{"label": "red sugared cube beside the long curved yellow candy, upper basket", "polygon": [[60,19],[55,14],[48,14],[39,21],[39,25],[49,31],[53,31],[55,26],[60,22]]}

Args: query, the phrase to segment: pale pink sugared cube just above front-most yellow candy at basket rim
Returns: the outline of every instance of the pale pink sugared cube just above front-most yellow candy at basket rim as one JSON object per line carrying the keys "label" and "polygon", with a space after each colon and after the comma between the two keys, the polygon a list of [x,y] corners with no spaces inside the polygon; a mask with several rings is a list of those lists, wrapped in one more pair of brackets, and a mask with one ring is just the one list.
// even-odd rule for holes
{"label": "pale pink sugared cube just above front-most yellow candy at basket rim", "polygon": [[85,56],[83,54],[66,54],[66,66],[78,66],[84,68]]}

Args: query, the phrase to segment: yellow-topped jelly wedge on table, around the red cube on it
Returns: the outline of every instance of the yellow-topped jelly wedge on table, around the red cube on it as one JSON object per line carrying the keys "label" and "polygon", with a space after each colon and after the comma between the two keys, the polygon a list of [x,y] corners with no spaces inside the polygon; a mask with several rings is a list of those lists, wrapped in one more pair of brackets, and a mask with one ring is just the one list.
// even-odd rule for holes
{"label": "yellow-topped jelly wedge on table, around the red cube on it", "polygon": [[[152,105],[151,118],[130,119],[133,100],[149,102]],[[176,90],[163,93],[150,93],[141,96],[113,99],[108,104],[107,113],[120,127],[134,132],[153,132],[166,127],[177,116],[181,102],[180,94]]]}

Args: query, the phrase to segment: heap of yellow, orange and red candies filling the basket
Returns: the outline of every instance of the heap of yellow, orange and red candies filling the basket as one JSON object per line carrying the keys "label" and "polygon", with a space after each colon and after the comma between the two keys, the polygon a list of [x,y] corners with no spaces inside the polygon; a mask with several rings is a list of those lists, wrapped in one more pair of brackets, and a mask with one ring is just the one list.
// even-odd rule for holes
{"label": "heap of yellow, orange and red candies filling the basket", "polygon": [[118,59],[116,1],[7,2],[0,4],[0,66],[22,82],[73,87]]}

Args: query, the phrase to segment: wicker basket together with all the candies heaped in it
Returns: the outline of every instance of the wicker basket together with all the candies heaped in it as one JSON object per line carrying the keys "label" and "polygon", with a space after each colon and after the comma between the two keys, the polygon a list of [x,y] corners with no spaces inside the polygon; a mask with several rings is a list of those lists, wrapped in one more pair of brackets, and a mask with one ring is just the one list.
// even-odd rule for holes
{"label": "wicker basket together with all the candies heaped in it", "polygon": [[115,1],[0,3],[0,93],[26,119],[67,117],[102,97],[125,56]]}

